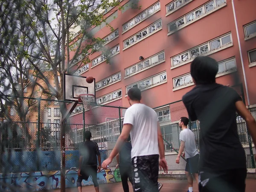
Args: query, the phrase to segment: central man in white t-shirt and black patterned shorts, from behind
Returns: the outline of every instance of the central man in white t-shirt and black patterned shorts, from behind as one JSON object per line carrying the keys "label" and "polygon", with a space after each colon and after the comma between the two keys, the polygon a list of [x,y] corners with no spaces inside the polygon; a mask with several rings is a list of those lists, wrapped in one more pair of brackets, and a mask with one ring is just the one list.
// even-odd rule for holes
{"label": "central man in white t-shirt and black patterned shorts, from behind", "polygon": [[134,191],[158,192],[159,166],[164,172],[167,172],[168,167],[157,113],[140,103],[141,91],[137,87],[128,90],[127,99],[131,107],[125,112],[122,133],[102,167],[105,169],[112,162],[130,134]]}

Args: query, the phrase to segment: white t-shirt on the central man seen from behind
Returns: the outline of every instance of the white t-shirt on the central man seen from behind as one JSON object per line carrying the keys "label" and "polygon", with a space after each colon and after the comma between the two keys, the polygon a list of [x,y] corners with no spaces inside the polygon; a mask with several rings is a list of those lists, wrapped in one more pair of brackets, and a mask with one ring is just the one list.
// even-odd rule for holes
{"label": "white t-shirt on the central man seen from behind", "polygon": [[157,113],[144,104],[134,104],[126,110],[123,124],[133,125],[131,158],[159,154],[157,122]]}

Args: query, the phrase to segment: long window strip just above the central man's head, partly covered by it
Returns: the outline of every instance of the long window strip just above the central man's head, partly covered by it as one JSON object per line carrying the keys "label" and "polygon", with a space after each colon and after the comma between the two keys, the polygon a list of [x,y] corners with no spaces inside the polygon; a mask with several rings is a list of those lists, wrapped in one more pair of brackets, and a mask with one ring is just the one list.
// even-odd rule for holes
{"label": "long window strip just above the central man's head, partly covered by it", "polygon": [[[163,76],[163,75],[165,75],[165,79],[161,80],[161,76]],[[157,77],[157,76],[160,76],[160,81],[158,81],[158,82],[156,82],[156,83],[153,83],[153,78],[154,78],[154,77]],[[149,86],[147,86],[146,81],[151,81],[151,83],[150,83]],[[147,77],[147,78],[145,78],[145,79],[143,79],[143,80],[137,81],[137,82],[135,82],[135,83],[133,83],[133,84],[130,84],[130,85],[125,86],[125,92],[126,92],[126,94],[127,94],[127,93],[128,93],[128,90],[129,90],[131,87],[134,87],[134,85],[137,85],[137,87],[140,89],[140,84],[141,84],[141,83],[145,83],[145,87],[142,88],[142,89],[140,89],[141,91],[143,91],[143,90],[147,90],[147,89],[149,89],[149,88],[151,88],[151,87],[154,87],[154,86],[156,86],[157,84],[161,84],[161,83],[164,82],[164,81],[167,82],[167,72],[166,72],[166,71],[163,71],[163,72],[161,72],[161,73],[155,74],[155,75],[150,76],[150,77]],[[136,86],[135,86],[135,87],[136,87]],[[128,88],[129,88],[129,89],[128,89]]]}

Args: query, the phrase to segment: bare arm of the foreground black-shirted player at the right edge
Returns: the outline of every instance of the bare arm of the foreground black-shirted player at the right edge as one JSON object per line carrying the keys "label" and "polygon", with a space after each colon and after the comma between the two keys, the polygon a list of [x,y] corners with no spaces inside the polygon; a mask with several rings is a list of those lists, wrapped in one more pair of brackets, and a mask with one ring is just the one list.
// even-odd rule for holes
{"label": "bare arm of the foreground black-shirted player at the right edge", "polygon": [[249,129],[250,135],[253,139],[253,143],[256,145],[256,121],[255,121],[255,119],[253,118],[250,111],[246,108],[246,106],[244,105],[244,102],[242,102],[242,101],[236,102],[236,110],[245,120],[245,122],[248,126],[248,129]]}

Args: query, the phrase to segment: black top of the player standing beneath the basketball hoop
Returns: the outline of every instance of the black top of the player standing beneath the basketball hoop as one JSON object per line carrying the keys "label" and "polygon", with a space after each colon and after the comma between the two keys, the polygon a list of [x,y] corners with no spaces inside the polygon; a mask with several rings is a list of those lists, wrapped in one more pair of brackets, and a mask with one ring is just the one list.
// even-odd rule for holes
{"label": "black top of the player standing beneath the basketball hoop", "polygon": [[79,149],[80,156],[83,157],[83,166],[95,166],[98,164],[97,156],[100,156],[99,146],[94,141],[85,141]]}

